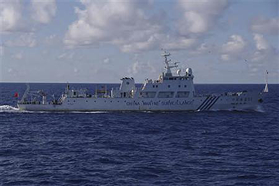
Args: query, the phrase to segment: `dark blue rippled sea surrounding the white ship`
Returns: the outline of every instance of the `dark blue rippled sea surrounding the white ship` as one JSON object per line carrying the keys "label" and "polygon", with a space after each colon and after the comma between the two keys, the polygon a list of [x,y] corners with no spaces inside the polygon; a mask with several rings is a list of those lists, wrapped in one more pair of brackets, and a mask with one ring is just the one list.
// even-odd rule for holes
{"label": "dark blue rippled sea surrounding the white ship", "polygon": [[[257,111],[36,113],[13,109],[24,84],[1,84],[0,185],[278,185],[278,87]],[[31,88],[58,98],[65,84]]]}

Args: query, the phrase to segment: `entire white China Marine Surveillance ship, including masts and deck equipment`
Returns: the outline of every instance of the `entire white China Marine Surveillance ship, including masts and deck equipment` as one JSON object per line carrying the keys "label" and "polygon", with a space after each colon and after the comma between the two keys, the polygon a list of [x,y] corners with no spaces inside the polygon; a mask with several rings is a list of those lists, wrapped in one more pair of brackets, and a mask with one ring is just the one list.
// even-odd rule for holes
{"label": "entire white China Marine Surveillance ship, including masts and deck equipment", "polygon": [[162,54],[165,70],[158,79],[145,79],[141,87],[136,86],[133,77],[121,78],[120,86],[110,91],[103,88],[102,91],[96,89],[95,93],[89,93],[85,88],[73,89],[67,84],[58,100],[47,101],[43,90],[30,91],[27,86],[17,107],[25,111],[255,110],[268,92],[266,73],[263,91],[196,93],[193,70],[179,69],[179,62],[172,62],[170,55],[169,52]]}

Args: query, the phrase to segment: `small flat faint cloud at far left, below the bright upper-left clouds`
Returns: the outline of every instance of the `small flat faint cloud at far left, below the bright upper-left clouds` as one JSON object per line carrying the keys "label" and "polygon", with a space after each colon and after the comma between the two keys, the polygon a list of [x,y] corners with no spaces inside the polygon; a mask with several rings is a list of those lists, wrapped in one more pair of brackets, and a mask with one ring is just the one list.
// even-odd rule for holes
{"label": "small flat faint cloud at far left, below the bright upper-left clouds", "polygon": [[8,47],[35,47],[36,44],[37,41],[34,33],[24,33],[15,40],[8,40],[5,42],[5,45]]}

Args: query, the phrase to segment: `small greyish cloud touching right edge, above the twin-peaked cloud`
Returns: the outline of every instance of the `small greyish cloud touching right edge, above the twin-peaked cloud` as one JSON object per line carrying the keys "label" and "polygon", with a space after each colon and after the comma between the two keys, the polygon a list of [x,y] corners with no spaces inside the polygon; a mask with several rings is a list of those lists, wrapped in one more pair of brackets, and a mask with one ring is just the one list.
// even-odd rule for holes
{"label": "small greyish cloud touching right edge, above the twin-peaked cloud", "polygon": [[254,33],[269,33],[278,35],[279,32],[279,17],[270,19],[264,19],[263,17],[257,17],[252,20],[250,25],[251,30]]}

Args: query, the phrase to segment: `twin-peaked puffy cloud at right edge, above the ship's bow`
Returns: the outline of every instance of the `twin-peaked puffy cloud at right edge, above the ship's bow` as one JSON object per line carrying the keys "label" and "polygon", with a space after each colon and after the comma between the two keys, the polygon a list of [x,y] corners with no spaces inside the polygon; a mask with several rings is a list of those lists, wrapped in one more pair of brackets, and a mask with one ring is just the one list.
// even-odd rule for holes
{"label": "twin-peaked puffy cloud at right edge, above the ship's bow", "polygon": [[[239,35],[232,35],[229,40],[220,48],[220,59],[234,64],[242,65],[242,68],[250,76],[263,74],[269,70],[271,74],[276,74],[278,69],[278,49],[275,49],[264,36],[259,33],[253,34],[255,47],[246,42]],[[253,51],[253,48],[254,49]]]}

